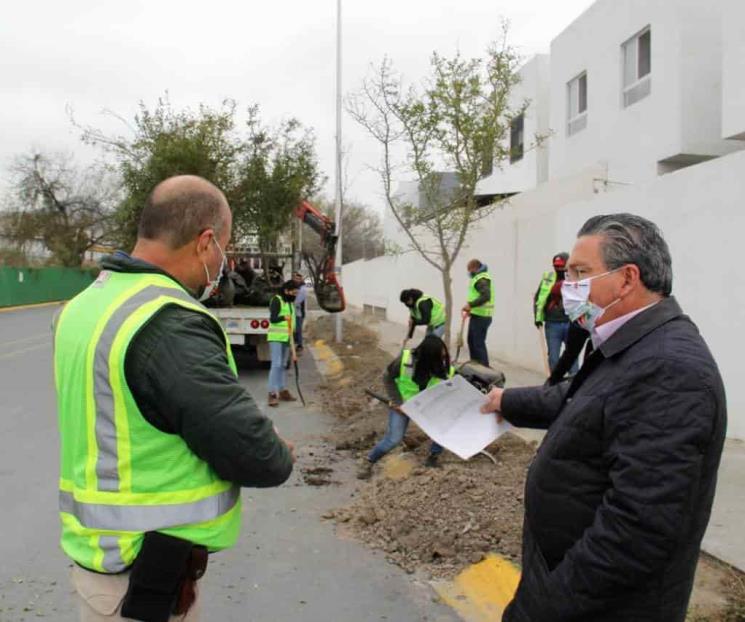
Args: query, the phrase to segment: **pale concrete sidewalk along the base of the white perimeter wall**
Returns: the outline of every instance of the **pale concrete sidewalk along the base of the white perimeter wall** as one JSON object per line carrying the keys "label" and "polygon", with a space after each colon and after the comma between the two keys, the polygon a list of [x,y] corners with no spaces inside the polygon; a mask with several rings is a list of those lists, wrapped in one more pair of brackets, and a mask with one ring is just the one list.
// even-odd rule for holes
{"label": "pale concrete sidewalk along the base of the white perimeter wall", "polygon": [[[363,315],[362,310],[350,307],[347,319],[364,322],[376,330],[380,338],[380,347],[396,356],[401,350],[401,342],[406,333],[406,326],[389,322],[380,317]],[[421,331],[421,329],[419,329]],[[455,356],[455,353],[452,353]],[[461,359],[467,356],[461,352]],[[543,374],[531,369],[517,367],[501,361],[494,353],[489,353],[492,366],[501,369],[507,377],[508,387],[543,384]],[[537,430],[516,430],[526,441],[538,440],[543,432]],[[738,570],[745,572],[745,538],[742,536],[741,521],[745,518],[745,442],[727,439],[719,468],[717,492],[714,498],[709,527],[704,536],[701,548],[708,554],[720,559]]]}

